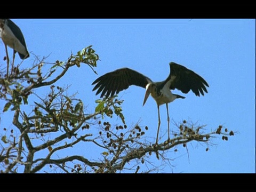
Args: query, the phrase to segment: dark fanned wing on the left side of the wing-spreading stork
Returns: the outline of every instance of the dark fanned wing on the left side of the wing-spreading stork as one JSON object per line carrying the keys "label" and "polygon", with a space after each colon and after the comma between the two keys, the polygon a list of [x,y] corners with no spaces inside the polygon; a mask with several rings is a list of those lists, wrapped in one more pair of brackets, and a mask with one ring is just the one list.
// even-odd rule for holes
{"label": "dark fanned wing on the left side of the wing-spreading stork", "polygon": [[150,78],[135,70],[121,68],[97,78],[92,83],[92,85],[96,84],[92,91],[98,89],[96,95],[101,92],[101,98],[105,94],[108,98],[109,95],[112,97],[113,95],[118,94],[120,91],[127,89],[130,85],[137,85],[146,88],[146,85],[150,82],[152,82]]}

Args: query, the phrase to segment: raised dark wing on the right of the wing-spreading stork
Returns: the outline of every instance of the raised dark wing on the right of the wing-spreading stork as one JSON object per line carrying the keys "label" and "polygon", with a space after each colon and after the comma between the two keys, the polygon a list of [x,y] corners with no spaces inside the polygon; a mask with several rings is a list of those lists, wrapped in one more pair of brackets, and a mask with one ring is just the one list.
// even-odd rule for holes
{"label": "raised dark wing on the right of the wing-spreading stork", "polygon": [[174,62],[170,62],[170,69],[171,73],[167,78],[171,79],[170,89],[178,89],[182,93],[188,93],[192,90],[198,97],[200,97],[200,93],[202,95],[204,92],[207,93],[206,86],[209,87],[208,83],[194,71]]}

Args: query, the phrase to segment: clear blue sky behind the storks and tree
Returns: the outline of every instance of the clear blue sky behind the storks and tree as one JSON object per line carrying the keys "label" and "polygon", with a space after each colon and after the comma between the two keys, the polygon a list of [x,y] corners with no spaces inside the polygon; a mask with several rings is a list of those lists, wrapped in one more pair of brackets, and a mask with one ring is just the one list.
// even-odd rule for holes
{"label": "clear blue sky behind the storks and tree", "polygon": [[[30,67],[35,55],[41,58],[50,54],[49,62],[66,61],[71,51],[76,53],[93,45],[100,61],[99,75],[129,67],[163,81],[170,73],[169,62],[180,63],[194,70],[209,83],[209,93],[196,97],[192,92],[169,104],[171,130],[174,122],[190,119],[207,124],[205,132],[215,130],[220,124],[235,132],[228,141],[214,139],[210,150],[196,142],[186,148],[170,151],[171,166],[162,172],[174,173],[255,173],[255,20],[253,19],[12,19],[22,30],[30,58],[22,67]],[[9,49],[10,52],[10,49]],[[0,43],[0,56],[5,55]],[[16,62],[19,61],[17,55]],[[1,61],[1,65],[4,61]],[[4,64],[3,64],[4,65]],[[96,106],[91,83],[98,76],[89,67],[72,68],[56,85],[70,85],[69,93],[78,92],[87,111]],[[44,93],[42,93],[45,95]],[[145,90],[131,86],[119,93],[124,100],[123,114],[127,126],[138,121],[148,125],[146,137],[155,141],[157,106],[149,98],[142,107]],[[0,103],[0,111],[3,104]],[[167,138],[166,108],[161,111],[161,135]],[[0,129],[11,127],[6,121],[11,113],[1,114]],[[11,119],[10,119],[11,120]],[[113,122],[121,121],[114,117]],[[216,145],[215,145],[216,144]],[[75,148],[72,154],[97,153],[90,149]],[[85,157],[88,157],[86,156]],[[97,159],[93,156],[91,159]],[[154,157],[154,163],[160,163]]]}

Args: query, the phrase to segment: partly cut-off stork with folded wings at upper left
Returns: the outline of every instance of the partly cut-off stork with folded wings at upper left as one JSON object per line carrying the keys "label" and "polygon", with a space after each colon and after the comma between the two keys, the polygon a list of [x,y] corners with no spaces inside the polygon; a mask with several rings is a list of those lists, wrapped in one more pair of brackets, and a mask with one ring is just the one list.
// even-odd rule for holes
{"label": "partly cut-off stork with folded wings at upper left", "polygon": [[[20,59],[27,59],[29,57],[29,52],[25,43],[25,38],[20,30],[20,28],[15,25],[15,23],[10,19],[0,19],[0,37],[2,38],[7,58],[7,77],[9,71],[9,56],[7,52],[7,46],[13,49],[13,60],[12,69],[14,64],[15,53],[18,52]],[[11,71],[12,71],[11,69]]]}

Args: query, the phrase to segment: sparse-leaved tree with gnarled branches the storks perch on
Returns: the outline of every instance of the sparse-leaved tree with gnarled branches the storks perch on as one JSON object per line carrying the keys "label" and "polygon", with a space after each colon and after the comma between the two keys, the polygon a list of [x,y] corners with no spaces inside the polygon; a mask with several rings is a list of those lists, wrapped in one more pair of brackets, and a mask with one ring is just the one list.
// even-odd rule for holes
{"label": "sparse-leaved tree with gnarled branches the storks perch on", "polygon": [[[20,69],[18,65],[9,75],[4,67],[0,71],[3,113],[13,113],[12,127],[1,128],[0,132],[3,173],[158,172],[160,167],[150,164],[151,155],[155,154],[159,161],[168,163],[163,151],[170,151],[178,145],[186,147],[191,141],[205,143],[207,151],[214,135],[222,135],[222,140],[234,135],[222,125],[215,131],[204,133],[205,126],[184,120],[177,123],[177,132],[170,141],[153,147],[145,139],[147,126],[141,127],[138,123],[130,128],[126,126],[121,106],[123,101],[118,100],[117,95],[96,100],[95,111],[86,114],[83,101],[75,94],[67,94],[68,87],[54,86],[71,67],[80,67],[82,63],[96,73],[99,56],[92,46],[76,55],[71,54],[68,61],[47,63],[46,59],[36,58],[36,64],[28,69]],[[51,67],[44,73],[46,63]],[[47,97],[38,95],[38,89],[46,89]],[[28,105],[33,105],[33,109]],[[113,116],[120,117],[122,123],[110,123]],[[73,148],[78,143],[102,152],[93,161],[86,156],[73,155]],[[61,157],[64,150],[68,150],[67,155]],[[149,166],[143,167],[142,164]]]}

